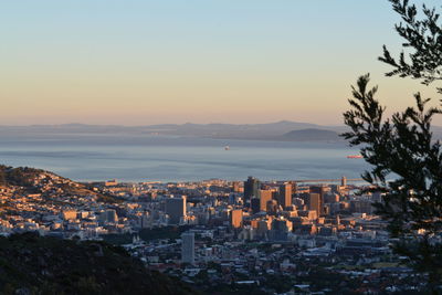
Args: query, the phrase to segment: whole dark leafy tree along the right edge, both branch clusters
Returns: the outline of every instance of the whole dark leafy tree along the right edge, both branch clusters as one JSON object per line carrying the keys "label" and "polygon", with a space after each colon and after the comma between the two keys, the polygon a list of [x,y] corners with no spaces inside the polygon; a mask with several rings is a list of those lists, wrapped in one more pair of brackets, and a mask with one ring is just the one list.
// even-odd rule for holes
{"label": "whole dark leafy tree along the right edge, both branch clusters", "polygon": [[[408,0],[389,1],[404,21],[396,25],[406,39],[403,46],[413,52],[409,60],[403,52],[393,59],[383,46],[379,60],[393,66],[386,75],[418,78],[425,85],[442,80],[442,28],[435,9],[423,4],[420,15]],[[344,114],[350,131],[343,136],[350,145],[361,146],[361,155],[372,167],[362,175],[371,190],[386,193],[376,208],[398,238],[393,250],[417,271],[428,273],[434,291],[442,282],[442,146],[433,139],[431,123],[442,109],[428,107],[430,98],[418,93],[414,107],[386,118],[369,80],[364,75],[352,87],[351,109]]]}

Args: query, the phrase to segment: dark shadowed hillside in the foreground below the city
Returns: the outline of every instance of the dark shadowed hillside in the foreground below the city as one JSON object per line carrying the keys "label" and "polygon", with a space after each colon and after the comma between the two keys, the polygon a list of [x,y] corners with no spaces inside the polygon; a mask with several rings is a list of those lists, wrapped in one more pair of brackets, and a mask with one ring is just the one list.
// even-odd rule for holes
{"label": "dark shadowed hillside in the foreground below the city", "polygon": [[0,294],[194,294],[148,271],[124,249],[102,242],[0,238]]}

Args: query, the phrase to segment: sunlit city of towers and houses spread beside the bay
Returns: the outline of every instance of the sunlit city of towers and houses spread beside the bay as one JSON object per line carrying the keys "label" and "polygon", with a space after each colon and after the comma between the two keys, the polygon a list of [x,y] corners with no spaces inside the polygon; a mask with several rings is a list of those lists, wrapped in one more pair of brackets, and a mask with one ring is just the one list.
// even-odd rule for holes
{"label": "sunlit city of towers and houses spread beside the bay", "polygon": [[[4,167],[8,175],[17,168]],[[204,293],[419,292],[360,179],[77,183],[19,169],[2,187],[1,234],[106,241]],[[28,192],[29,188],[36,191]]]}

